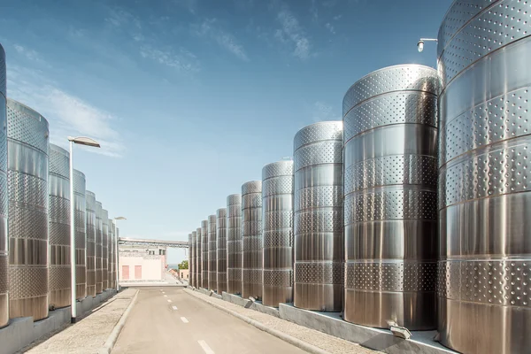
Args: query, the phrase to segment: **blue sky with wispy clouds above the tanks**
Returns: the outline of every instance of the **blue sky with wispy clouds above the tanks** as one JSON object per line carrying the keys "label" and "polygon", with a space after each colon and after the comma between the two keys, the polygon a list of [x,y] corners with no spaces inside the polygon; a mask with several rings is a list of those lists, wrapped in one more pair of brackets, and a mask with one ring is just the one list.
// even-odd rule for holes
{"label": "blue sky with wispy clouds above the tanks", "polygon": [[[8,96],[89,135],[75,168],[122,236],[188,234],[293,136],[341,119],[342,96],[387,65],[435,67],[450,0],[2,2]],[[170,262],[184,258],[170,252]]]}

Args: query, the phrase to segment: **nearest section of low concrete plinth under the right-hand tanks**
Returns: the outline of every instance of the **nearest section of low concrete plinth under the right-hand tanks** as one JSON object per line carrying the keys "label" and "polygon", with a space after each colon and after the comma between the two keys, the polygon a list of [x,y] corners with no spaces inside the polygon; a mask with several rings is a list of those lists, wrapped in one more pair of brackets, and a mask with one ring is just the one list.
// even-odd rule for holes
{"label": "nearest section of low concrete plinth under the right-hand tanks", "polygon": [[413,331],[409,340],[394,336],[387,329],[355,325],[340,317],[339,312],[314,312],[298,309],[293,304],[280,304],[281,319],[316,329],[362,346],[389,354],[408,352],[426,354],[455,354],[456,351],[434,341],[436,331]]}

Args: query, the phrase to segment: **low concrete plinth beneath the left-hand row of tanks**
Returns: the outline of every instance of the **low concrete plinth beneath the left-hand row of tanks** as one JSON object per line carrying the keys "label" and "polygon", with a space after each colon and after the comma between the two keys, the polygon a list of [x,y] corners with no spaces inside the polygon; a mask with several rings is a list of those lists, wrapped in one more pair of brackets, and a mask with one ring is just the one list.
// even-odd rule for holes
{"label": "low concrete plinth beneath the left-hand row of tanks", "polygon": [[[85,314],[99,306],[109,297],[116,294],[116,290],[108,289],[96,297],[85,297],[76,303],[78,314]],[[7,327],[0,329],[0,354],[11,354],[21,350],[28,344],[35,342],[43,335],[49,335],[70,323],[70,306],[50,311],[47,319],[37,322],[32,317],[11,319]]]}

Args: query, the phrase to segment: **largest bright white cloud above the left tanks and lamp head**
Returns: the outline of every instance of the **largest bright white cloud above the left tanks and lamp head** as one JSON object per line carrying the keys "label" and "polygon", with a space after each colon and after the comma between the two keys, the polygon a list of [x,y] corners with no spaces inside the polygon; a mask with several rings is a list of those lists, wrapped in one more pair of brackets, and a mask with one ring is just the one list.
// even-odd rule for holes
{"label": "largest bright white cloud above the left tanks and lamp head", "polygon": [[116,117],[58,88],[38,72],[8,67],[9,96],[40,112],[50,123],[50,142],[65,146],[65,138],[90,136],[102,145],[89,149],[111,157],[121,157],[125,146],[112,127]]}

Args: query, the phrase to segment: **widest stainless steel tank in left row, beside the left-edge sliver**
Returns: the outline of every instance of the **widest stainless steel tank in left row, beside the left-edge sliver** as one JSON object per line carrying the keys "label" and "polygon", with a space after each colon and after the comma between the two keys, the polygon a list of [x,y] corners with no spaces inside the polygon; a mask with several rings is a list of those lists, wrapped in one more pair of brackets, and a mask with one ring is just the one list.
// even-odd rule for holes
{"label": "widest stainless steel tank in left row, beside the left-edge sliver", "polygon": [[10,317],[48,317],[48,121],[7,99]]}

